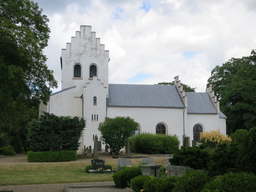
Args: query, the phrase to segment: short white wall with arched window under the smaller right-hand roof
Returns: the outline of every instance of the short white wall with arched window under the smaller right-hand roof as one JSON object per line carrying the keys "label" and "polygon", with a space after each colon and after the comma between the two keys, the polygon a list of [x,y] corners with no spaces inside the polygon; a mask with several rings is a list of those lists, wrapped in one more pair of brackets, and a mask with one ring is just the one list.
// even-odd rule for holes
{"label": "short white wall with arched window under the smaller right-hand roof", "polygon": [[193,127],[199,124],[203,128],[203,132],[209,132],[212,130],[226,134],[226,122],[222,118],[219,118],[219,114],[188,114],[187,115],[187,127],[186,135],[190,137],[190,145],[192,146],[193,140]]}

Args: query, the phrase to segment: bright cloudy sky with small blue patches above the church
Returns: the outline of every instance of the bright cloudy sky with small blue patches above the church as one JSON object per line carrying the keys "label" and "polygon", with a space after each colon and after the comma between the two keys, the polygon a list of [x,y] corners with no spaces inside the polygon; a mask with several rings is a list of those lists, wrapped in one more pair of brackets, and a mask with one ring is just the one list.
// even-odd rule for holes
{"label": "bright cloudy sky with small blue patches above the church", "polygon": [[[179,76],[205,92],[211,70],[256,49],[256,0],[34,0],[50,19],[47,66],[61,90],[61,49],[80,25],[109,50],[109,83]],[[53,90],[53,92],[57,91]]]}

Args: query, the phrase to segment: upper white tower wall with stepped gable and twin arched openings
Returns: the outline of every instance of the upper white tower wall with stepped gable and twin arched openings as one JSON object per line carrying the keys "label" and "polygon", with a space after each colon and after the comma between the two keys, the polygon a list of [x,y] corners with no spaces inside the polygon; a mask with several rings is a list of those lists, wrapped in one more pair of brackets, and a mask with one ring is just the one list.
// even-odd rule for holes
{"label": "upper white tower wall with stepped gable and twin arched openings", "polygon": [[[82,88],[88,82],[91,64],[97,66],[98,78],[108,86],[108,61],[109,52],[91,31],[91,26],[81,26],[76,36],[71,38],[71,43],[62,49],[62,89],[74,85]],[[81,78],[73,77],[75,64],[81,65]]]}

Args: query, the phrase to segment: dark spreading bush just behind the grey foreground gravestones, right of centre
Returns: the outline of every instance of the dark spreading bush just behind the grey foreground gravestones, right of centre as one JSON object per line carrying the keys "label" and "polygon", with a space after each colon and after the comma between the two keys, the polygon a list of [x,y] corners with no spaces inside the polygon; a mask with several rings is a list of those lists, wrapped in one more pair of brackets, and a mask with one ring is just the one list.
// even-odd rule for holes
{"label": "dark spreading bush just behind the grey foreground gravestones, right of centre", "polygon": [[181,147],[173,154],[171,165],[189,166],[193,169],[207,169],[210,160],[209,153],[195,147]]}

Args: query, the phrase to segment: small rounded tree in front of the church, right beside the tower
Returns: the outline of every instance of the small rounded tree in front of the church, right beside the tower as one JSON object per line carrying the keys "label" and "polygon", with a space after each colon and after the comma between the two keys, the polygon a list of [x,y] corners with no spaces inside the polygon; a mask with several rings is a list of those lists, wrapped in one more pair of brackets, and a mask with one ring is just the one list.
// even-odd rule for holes
{"label": "small rounded tree in front of the church, right beside the tower", "polygon": [[105,118],[105,121],[99,124],[98,130],[101,132],[101,140],[118,155],[124,147],[125,140],[132,136],[138,127],[130,117],[116,117],[114,119]]}

